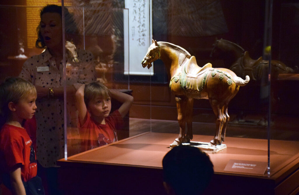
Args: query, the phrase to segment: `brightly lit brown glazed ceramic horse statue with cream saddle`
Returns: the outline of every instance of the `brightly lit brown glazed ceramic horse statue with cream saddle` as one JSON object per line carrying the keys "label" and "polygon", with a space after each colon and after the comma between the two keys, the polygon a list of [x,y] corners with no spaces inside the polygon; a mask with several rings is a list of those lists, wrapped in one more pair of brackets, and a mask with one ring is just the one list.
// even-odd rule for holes
{"label": "brightly lit brown glazed ceramic horse statue with cream saddle", "polygon": [[[225,131],[229,121],[228,103],[237,94],[239,86],[249,82],[249,76],[243,80],[226,68],[212,68],[210,63],[199,67],[194,56],[184,48],[168,42],[152,40],[142,66],[151,67],[151,63],[161,59],[167,69],[169,86],[176,98],[180,133],[170,145],[175,147],[188,143],[193,138],[192,113],[193,99],[209,99],[216,115],[216,134],[210,141],[214,146],[225,141]],[[185,125],[187,133],[185,134]]]}

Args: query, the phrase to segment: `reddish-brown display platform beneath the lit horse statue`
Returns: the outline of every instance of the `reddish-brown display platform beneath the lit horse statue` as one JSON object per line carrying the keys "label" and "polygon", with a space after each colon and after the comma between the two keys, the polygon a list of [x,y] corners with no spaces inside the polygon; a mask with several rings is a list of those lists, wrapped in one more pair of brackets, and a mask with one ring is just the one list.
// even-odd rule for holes
{"label": "reddish-brown display platform beneath the lit horse statue", "polygon": [[[146,132],[57,162],[66,194],[165,194],[162,159],[177,134]],[[213,136],[194,135],[209,142]],[[268,162],[268,140],[233,138],[227,150],[209,154],[214,165],[205,194],[297,194],[299,142],[270,141],[270,176],[224,171],[228,162]]]}

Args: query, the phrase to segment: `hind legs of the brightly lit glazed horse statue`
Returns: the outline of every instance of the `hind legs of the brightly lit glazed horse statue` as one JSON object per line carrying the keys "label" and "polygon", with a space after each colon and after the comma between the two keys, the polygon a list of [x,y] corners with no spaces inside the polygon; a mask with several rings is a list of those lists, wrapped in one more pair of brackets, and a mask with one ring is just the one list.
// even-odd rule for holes
{"label": "hind legs of the brightly lit glazed horse statue", "polygon": [[212,100],[212,99],[209,99],[209,100],[210,100],[212,109],[214,111],[214,114],[216,115],[216,118],[217,118],[216,119],[216,133],[215,133],[213,140],[211,140],[210,143],[216,146],[216,145],[222,144],[221,132],[222,132],[222,129],[226,122],[226,115],[224,114],[225,106],[221,104],[222,103],[221,101],[219,102],[218,100]]}

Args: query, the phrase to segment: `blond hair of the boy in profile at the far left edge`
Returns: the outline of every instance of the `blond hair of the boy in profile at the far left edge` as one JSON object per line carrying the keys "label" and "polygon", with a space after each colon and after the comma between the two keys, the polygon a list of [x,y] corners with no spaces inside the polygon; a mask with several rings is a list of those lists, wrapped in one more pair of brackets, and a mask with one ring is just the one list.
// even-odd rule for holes
{"label": "blond hair of the boy in profile at the far left edge", "polygon": [[0,85],[0,127],[6,123],[10,116],[8,103],[18,103],[27,95],[36,95],[35,86],[18,77],[8,77]]}

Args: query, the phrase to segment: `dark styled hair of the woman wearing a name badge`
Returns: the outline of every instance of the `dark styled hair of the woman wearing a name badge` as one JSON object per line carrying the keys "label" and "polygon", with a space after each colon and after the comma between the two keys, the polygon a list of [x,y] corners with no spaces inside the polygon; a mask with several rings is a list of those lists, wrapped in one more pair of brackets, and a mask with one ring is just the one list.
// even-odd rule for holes
{"label": "dark styled hair of the woman wearing a name badge", "polygon": [[[40,10],[40,18],[44,13],[59,13],[62,17],[62,7],[59,5],[47,5]],[[68,11],[66,7],[64,7],[64,18],[65,18],[65,32],[69,34],[78,33],[78,28],[75,23],[73,15]],[[37,39],[35,42],[36,48],[45,48],[46,44],[42,37],[42,33],[40,32],[40,25],[36,28]]]}

